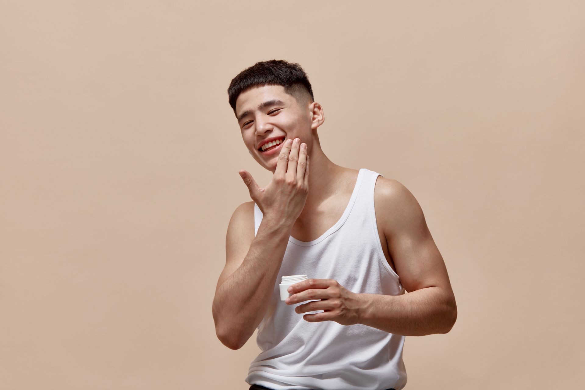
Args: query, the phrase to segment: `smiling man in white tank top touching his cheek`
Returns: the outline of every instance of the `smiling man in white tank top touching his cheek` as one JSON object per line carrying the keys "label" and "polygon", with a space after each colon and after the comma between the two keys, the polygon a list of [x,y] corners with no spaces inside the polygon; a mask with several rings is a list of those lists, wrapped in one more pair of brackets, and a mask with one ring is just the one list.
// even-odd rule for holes
{"label": "smiling man in white tank top touching his cheek", "polygon": [[[273,178],[260,188],[239,172],[252,201],[228,226],[212,308],[219,340],[238,349],[259,329],[250,389],[403,388],[404,337],[448,333],[457,317],[417,200],[325,156],[323,108],[299,64],[256,63],[228,95],[246,148]],[[281,277],[301,274],[280,301]]]}

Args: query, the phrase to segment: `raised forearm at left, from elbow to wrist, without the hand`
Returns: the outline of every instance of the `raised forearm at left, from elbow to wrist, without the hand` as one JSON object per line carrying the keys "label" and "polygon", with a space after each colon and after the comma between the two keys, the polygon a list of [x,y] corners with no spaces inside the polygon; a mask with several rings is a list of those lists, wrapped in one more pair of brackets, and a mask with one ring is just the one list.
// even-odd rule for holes
{"label": "raised forearm at left, from elbow to wrist, without the hand", "polygon": [[264,317],[290,232],[289,224],[265,217],[242,264],[218,288],[212,310],[226,345],[241,347]]}

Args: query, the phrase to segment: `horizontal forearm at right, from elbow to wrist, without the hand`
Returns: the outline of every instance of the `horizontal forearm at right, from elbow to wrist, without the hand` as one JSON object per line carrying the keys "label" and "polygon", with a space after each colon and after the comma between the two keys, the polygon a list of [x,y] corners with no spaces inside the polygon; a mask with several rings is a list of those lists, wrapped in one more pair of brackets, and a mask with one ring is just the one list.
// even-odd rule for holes
{"label": "horizontal forearm at right, from elbow to wrist, without the hand", "polygon": [[359,323],[404,336],[448,333],[457,319],[455,298],[439,287],[402,295],[357,294]]}

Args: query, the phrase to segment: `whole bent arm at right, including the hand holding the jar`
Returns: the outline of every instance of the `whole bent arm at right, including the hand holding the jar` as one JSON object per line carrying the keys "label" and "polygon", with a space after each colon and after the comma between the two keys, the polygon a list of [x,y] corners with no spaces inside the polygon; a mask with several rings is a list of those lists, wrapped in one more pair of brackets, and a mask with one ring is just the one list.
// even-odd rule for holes
{"label": "whole bent arm at right, including the hand holding the jar", "polygon": [[[417,199],[400,182],[378,178],[374,192],[376,219],[384,226],[403,295],[364,294],[347,290],[334,279],[308,279],[292,285],[287,305],[321,299],[295,308],[308,322],[362,323],[404,336],[447,333],[457,319],[457,305],[447,269],[426,226]],[[379,206],[379,207],[378,207]]]}

